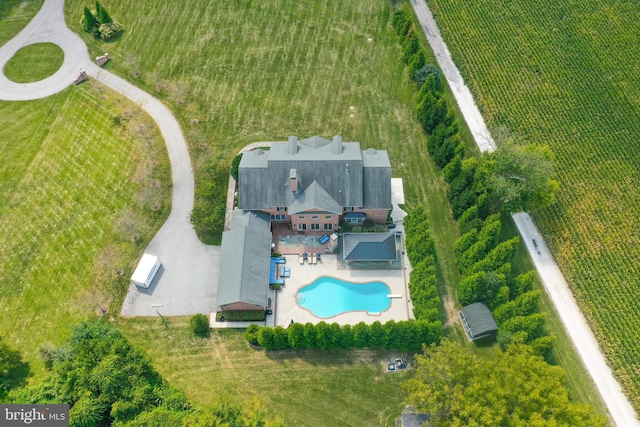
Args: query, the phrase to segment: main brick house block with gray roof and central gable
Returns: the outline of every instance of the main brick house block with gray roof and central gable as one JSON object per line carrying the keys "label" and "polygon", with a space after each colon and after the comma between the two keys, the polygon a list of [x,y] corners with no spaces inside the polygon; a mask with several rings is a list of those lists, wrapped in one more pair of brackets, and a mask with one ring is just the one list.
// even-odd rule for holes
{"label": "main brick house block with gray roof and central gable", "polygon": [[270,215],[300,233],[337,231],[340,220],[383,224],[391,210],[391,163],[384,150],[313,136],[243,154],[238,207]]}

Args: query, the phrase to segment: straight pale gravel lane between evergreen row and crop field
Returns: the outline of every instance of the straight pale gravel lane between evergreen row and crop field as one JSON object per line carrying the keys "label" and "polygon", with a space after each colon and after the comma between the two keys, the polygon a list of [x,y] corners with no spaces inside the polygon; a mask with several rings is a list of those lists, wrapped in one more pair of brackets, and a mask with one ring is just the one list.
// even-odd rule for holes
{"label": "straight pale gravel lane between evergreen row and crop field", "polygon": [[[471,91],[464,84],[458,69],[451,59],[449,49],[440,36],[440,31],[431,11],[424,0],[411,0],[411,4],[436,55],[438,65],[447,79],[460,110],[469,125],[469,129],[476,140],[476,144],[478,144],[481,151],[494,151],[496,148],[495,142],[491,138],[480,110],[478,110],[473,100]],[[613,377],[613,373],[600,351],[593,332],[584,316],[582,316],[580,308],[560,272],[560,268],[558,268],[553,255],[533,220],[529,214],[524,212],[514,214],[513,220],[527,245],[544,288],[553,301],[567,333],[600,391],[611,417],[620,427],[640,425],[631,403],[622,392],[620,384]],[[533,239],[536,239],[537,249],[533,245]]]}

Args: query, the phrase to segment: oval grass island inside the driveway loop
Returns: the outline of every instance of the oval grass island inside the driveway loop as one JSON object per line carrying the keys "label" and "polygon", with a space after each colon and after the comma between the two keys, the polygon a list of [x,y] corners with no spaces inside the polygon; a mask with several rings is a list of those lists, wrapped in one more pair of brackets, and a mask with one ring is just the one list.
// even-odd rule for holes
{"label": "oval grass island inside the driveway loop", "polygon": [[[46,58],[43,61],[43,58]],[[31,83],[53,75],[64,60],[64,52],[53,43],[25,46],[5,64],[4,74],[16,83]]]}

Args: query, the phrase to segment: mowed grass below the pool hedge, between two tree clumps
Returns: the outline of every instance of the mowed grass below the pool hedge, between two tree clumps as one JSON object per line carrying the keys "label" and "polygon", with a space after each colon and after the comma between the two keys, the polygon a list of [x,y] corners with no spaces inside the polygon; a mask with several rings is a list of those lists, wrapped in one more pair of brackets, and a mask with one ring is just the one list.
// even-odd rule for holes
{"label": "mowed grass below the pool hedge, between two tree clumps", "polygon": [[[194,337],[188,318],[119,319],[171,384],[203,408],[223,396],[258,397],[287,425],[390,426],[403,408],[400,387],[410,371],[386,373],[389,351],[277,351],[249,346],[243,331]],[[152,346],[148,343],[153,342]]]}

